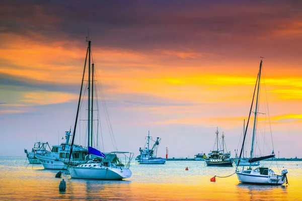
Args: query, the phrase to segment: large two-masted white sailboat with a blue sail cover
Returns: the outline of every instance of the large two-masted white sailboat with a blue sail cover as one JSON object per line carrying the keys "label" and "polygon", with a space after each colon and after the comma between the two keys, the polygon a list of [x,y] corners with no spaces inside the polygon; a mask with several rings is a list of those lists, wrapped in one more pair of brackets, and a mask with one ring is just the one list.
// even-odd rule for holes
{"label": "large two-masted white sailboat with a blue sail cover", "polygon": [[[83,82],[85,77],[85,69],[88,57],[88,155],[86,156],[86,162],[82,164],[73,164],[73,161],[68,161],[68,171],[71,178],[81,179],[115,179],[121,180],[129,178],[132,175],[130,167],[130,161],[133,157],[133,153],[130,152],[118,152],[113,151],[110,153],[102,153],[101,151],[93,148],[93,104],[94,104],[94,63],[91,65],[91,41],[88,41],[88,48],[86,53],[84,72],[82,78],[82,85],[80,90],[80,97],[78,103],[77,116],[75,118],[75,124],[73,129],[73,136],[71,141],[71,149],[74,142],[75,131],[77,129],[77,122],[79,117],[79,110],[82,98]],[[92,72],[92,73],[91,73]],[[91,75],[92,74],[92,75]],[[124,163],[123,163],[124,162]]]}

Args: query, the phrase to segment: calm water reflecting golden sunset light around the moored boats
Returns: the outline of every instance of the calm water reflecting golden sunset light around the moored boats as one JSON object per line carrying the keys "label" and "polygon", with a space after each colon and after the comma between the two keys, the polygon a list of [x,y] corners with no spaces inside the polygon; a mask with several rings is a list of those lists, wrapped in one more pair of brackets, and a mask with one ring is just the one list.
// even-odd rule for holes
{"label": "calm water reflecting golden sunset light around the moored boats", "polygon": [[[271,164],[266,161],[262,164]],[[240,184],[235,167],[206,167],[204,161],[167,161],[165,165],[131,166],[132,177],[123,181],[71,179],[59,193],[58,170],[28,165],[25,157],[0,157],[0,200],[302,200],[302,161],[278,161],[288,170],[289,185]],[[27,166],[27,167],[26,167]],[[185,171],[185,167],[189,171]],[[278,172],[276,163],[271,168]]]}

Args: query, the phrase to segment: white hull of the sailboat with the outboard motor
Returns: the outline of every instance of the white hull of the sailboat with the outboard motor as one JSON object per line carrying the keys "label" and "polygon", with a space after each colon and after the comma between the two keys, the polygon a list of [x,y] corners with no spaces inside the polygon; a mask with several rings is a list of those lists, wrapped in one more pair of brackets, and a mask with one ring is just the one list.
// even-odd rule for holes
{"label": "white hull of the sailboat with the outboard motor", "polygon": [[[251,171],[251,173],[244,173]],[[257,185],[281,185],[285,182],[285,175],[270,174],[263,175],[254,170],[244,170],[236,172],[237,177],[242,183],[257,184]]]}

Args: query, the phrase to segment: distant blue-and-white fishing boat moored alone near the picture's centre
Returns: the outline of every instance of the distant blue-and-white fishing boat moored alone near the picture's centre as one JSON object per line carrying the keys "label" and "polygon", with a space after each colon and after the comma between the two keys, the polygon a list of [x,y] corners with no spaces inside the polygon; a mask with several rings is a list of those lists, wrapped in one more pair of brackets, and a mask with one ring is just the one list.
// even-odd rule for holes
{"label": "distant blue-and-white fishing boat moored alone near the picture's centre", "polygon": [[[157,151],[161,140],[161,138],[157,137],[156,141],[154,141],[148,131],[148,136],[146,136],[146,143],[144,146],[145,148],[142,149],[139,147],[140,154],[136,156],[135,160],[137,160],[139,164],[165,164],[166,158],[157,157]],[[153,146],[151,145],[152,148],[150,149],[150,143],[152,141],[154,144]]]}

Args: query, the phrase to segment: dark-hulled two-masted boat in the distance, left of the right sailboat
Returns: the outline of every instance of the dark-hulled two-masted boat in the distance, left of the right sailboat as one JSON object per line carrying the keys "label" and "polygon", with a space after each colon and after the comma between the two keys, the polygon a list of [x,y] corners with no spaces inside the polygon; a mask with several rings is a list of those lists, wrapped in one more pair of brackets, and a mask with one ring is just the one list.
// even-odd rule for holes
{"label": "dark-hulled two-masted boat in the distance, left of the right sailboat", "polygon": [[205,159],[207,166],[217,166],[217,167],[233,167],[233,158],[230,158],[231,152],[224,152],[224,134],[222,133],[222,150],[218,149],[219,137],[218,137],[218,127],[216,130],[216,144],[217,150],[208,153],[208,157]]}

